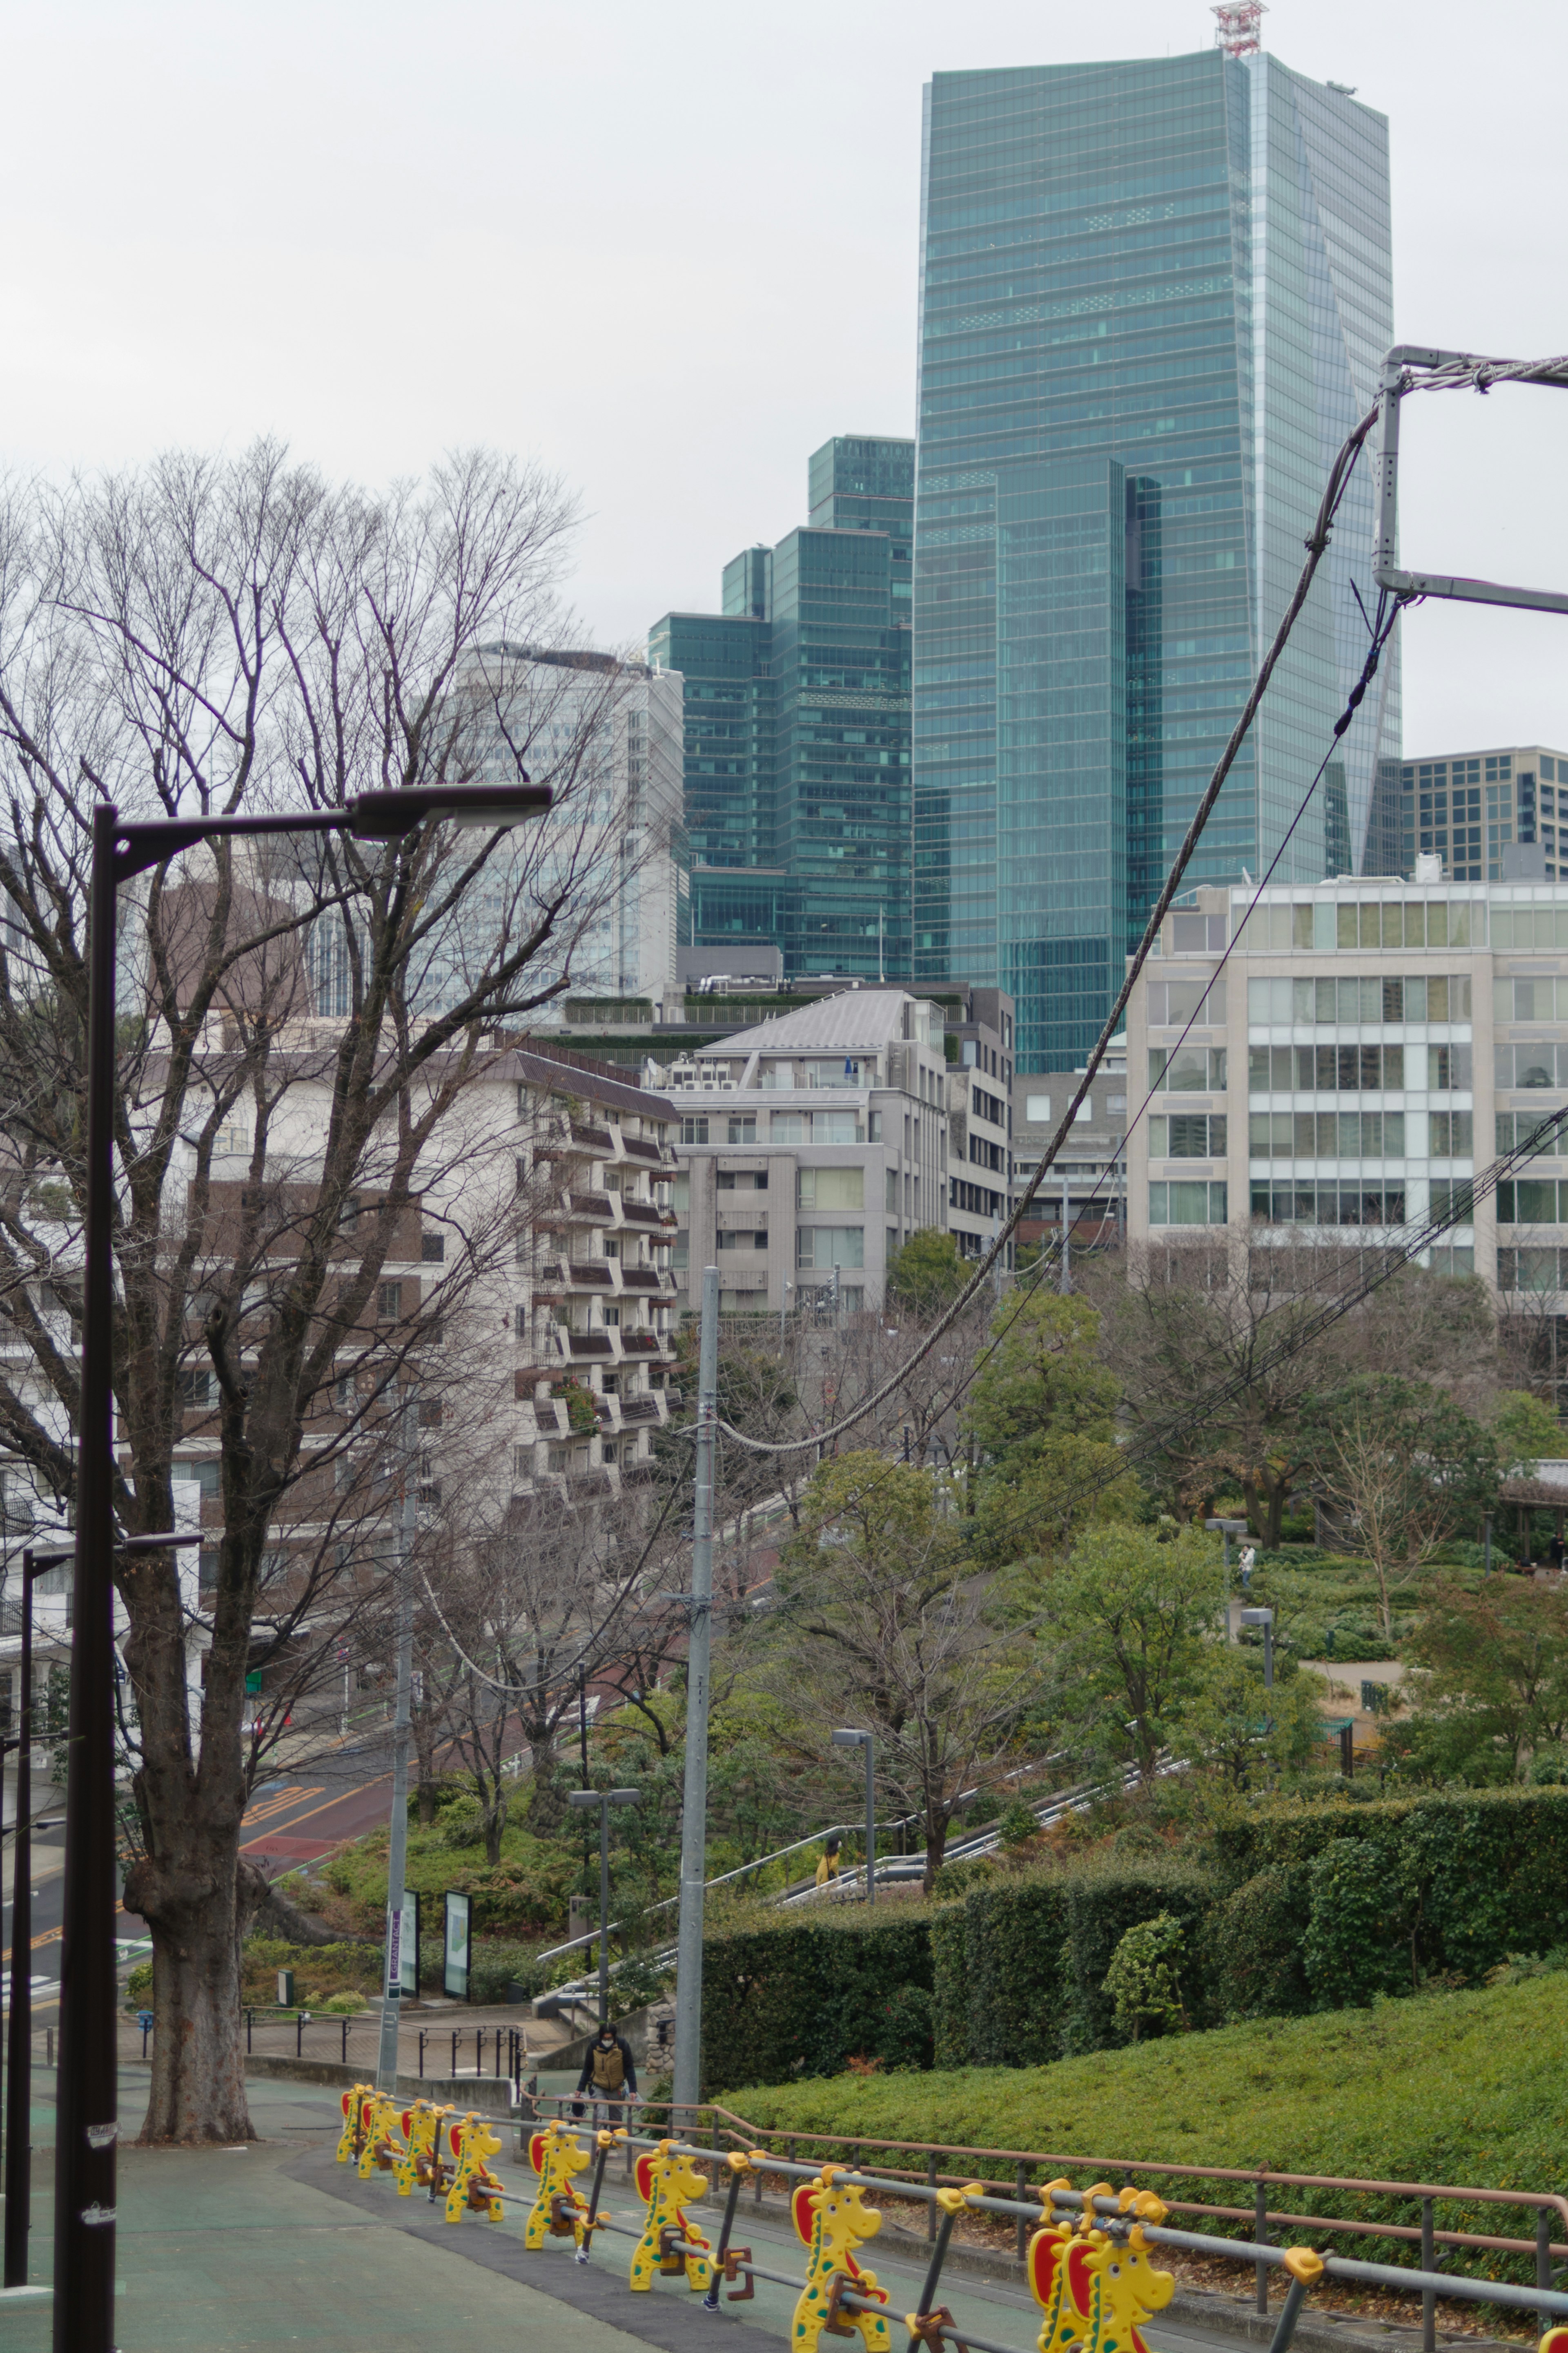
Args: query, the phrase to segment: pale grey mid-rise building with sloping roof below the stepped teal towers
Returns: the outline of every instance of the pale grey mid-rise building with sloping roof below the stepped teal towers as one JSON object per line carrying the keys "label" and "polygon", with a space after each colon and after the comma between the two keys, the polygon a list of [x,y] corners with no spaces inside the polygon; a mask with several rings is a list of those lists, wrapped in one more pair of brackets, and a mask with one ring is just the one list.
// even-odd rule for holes
{"label": "pale grey mid-rise building with sloping roof below the stepped teal towers", "polygon": [[945,1224],[938,1005],[846,988],[649,1071],[679,1118],[682,1308],[703,1266],[729,1315],[882,1306],[898,1245]]}

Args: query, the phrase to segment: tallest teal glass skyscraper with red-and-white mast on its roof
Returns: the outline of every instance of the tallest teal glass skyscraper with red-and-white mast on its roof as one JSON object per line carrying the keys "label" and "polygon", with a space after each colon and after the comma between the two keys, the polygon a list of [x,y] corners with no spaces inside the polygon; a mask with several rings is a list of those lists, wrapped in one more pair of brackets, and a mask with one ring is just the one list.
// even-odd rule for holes
{"label": "tallest teal glass skyscraper with red-and-white mast on its roof", "polygon": [[[1018,1002],[1018,1068],[1093,1042],[1394,341],[1387,120],[1222,52],[940,73],[922,162],[914,981]],[[1190,882],[1258,875],[1373,605],[1373,468]],[[1276,880],[1375,871],[1399,671]]]}

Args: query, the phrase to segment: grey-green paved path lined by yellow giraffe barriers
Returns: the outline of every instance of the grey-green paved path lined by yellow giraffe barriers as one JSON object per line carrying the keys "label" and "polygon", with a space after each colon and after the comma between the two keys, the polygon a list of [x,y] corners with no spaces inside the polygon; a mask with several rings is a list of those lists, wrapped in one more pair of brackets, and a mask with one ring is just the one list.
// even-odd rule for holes
{"label": "grey-green paved path lined by yellow giraffe barriers", "polygon": [[[146,2075],[122,2071],[122,2115],[146,2099]],[[397,2198],[386,2177],[360,2181],[334,2162],[336,2097],[303,2085],[252,2082],[259,2144],[230,2151],[139,2151],[120,2160],[120,2353],[270,2353],[282,2346],[374,2346],[430,2353],[433,2344],[548,2344],[550,2353],[696,2353],[722,2337],[729,2353],[778,2353],[792,2292],[759,2282],[755,2304],[717,2318],[679,2280],[651,2294],[625,2287],[628,2238],[607,2235],[590,2266],[567,2240],[524,2254],[510,2207],[501,2226],[456,2228],[421,2198]],[[54,2078],[33,2078],[33,2278],[49,2275]],[[531,2195],[534,2174],[498,2160],[503,2181]],[[625,2184],[607,2186],[609,2212],[639,2221]],[[766,2268],[799,2273],[799,2245],[771,2217],[736,2233]],[[910,2311],[919,2268],[877,2266],[893,2311]],[[952,2280],[950,2301],[980,2334],[1030,2353],[1037,2306],[1020,2292]],[[463,2339],[458,2332],[473,2332]],[[543,2332],[543,2334],[538,2334]],[[1237,2353],[1234,2339],[1152,2329],[1154,2353]],[[49,2306],[12,2304],[0,2318],[5,2353],[47,2353]]]}

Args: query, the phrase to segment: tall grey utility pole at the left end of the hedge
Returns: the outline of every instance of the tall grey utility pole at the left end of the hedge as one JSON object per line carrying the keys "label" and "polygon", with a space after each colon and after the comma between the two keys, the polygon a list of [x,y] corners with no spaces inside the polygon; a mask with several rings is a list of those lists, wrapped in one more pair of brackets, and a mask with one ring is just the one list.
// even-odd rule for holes
{"label": "tall grey utility pole at the left end of the hedge", "polygon": [[[835,1268],[837,1273],[837,1268]],[[708,1640],[712,1631],[712,1480],[719,1440],[719,1268],[703,1268],[696,1377],[696,1494],[686,1595],[686,1786],[675,1948],[672,2132],[691,2132],[703,2089],[703,1880],[708,1875]],[[682,2122],[682,2111],[684,2122]]]}

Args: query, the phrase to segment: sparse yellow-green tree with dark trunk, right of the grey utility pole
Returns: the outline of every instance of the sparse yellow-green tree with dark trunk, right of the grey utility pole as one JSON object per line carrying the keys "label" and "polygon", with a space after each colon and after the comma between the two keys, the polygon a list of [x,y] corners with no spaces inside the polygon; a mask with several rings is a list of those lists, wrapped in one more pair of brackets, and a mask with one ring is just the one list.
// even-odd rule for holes
{"label": "sparse yellow-green tree with dark trunk, right of the grey utility pole", "polygon": [[877,1741],[877,1786],[926,1831],[926,1894],[959,1795],[992,1774],[1027,1697],[1027,1645],[973,1574],[947,1480],[882,1454],[823,1464],[778,1565],[771,1668],[820,1746]]}

